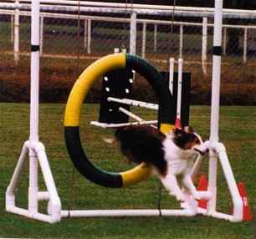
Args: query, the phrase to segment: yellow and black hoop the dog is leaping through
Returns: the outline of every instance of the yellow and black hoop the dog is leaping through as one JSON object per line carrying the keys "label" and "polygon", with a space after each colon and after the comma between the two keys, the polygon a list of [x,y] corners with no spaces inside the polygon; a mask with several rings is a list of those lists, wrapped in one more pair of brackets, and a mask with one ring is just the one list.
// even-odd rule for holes
{"label": "yellow and black hoop the dog is leaping through", "polygon": [[145,59],[129,53],[107,55],[85,69],[69,94],[64,114],[65,142],[74,166],[88,180],[100,186],[112,188],[130,186],[143,181],[151,170],[143,163],[131,170],[120,173],[111,173],[95,167],[88,159],[81,145],[79,137],[80,112],[85,96],[95,79],[99,79],[101,75],[110,70],[125,68],[134,69],[151,84],[160,105],[158,113],[160,130],[163,133],[172,130],[172,122],[174,122],[172,110],[174,105],[166,79]]}

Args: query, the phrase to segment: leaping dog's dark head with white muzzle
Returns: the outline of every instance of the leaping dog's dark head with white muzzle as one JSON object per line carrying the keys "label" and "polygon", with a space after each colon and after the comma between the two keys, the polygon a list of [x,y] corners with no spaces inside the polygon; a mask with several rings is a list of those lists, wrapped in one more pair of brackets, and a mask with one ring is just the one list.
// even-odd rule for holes
{"label": "leaping dog's dark head with white muzzle", "polygon": [[182,150],[196,150],[201,155],[207,152],[207,147],[203,144],[202,138],[192,130],[192,127],[175,128],[172,133],[173,142]]}

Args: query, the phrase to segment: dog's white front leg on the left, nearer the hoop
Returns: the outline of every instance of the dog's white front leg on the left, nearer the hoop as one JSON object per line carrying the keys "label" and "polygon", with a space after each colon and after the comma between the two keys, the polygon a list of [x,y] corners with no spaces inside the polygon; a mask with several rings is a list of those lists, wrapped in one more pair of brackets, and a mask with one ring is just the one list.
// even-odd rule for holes
{"label": "dog's white front leg on the left, nearer the hoop", "polygon": [[176,175],[167,175],[164,179],[161,179],[163,186],[166,187],[166,190],[170,193],[170,195],[175,196],[177,201],[185,201],[186,196],[181,191],[180,186],[177,182]]}

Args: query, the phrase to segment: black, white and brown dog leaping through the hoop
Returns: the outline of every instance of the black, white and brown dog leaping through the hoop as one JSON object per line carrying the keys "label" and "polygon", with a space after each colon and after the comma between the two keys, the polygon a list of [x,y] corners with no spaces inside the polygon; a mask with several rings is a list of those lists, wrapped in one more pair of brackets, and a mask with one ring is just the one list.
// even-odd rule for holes
{"label": "black, white and brown dog leaping through the hoop", "polygon": [[177,201],[186,201],[186,194],[180,188],[177,177],[181,177],[183,186],[194,199],[201,199],[190,172],[197,155],[204,155],[207,147],[191,127],[175,128],[165,135],[151,126],[131,125],[117,129],[115,140],[129,162],[144,162],[150,166]]}

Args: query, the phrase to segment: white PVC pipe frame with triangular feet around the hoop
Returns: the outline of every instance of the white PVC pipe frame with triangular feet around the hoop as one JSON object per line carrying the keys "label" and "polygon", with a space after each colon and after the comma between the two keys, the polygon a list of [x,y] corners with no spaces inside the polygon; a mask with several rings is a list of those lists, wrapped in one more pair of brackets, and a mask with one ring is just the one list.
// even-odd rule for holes
{"label": "white PVC pipe frame with triangular feet around the hoop", "polygon": [[[39,45],[39,0],[32,1],[32,25],[31,44]],[[222,40],[222,16],[223,0],[215,0],[214,13],[214,40],[216,47],[221,46]],[[6,210],[15,214],[54,223],[63,217],[78,216],[195,216],[197,213],[227,219],[229,221],[243,220],[243,201],[238,193],[238,187],[233,176],[233,171],[228,161],[228,156],[223,144],[218,140],[219,123],[219,95],[220,95],[220,73],[221,56],[213,55],[212,58],[212,109],[211,109],[211,134],[208,148],[209,154],[209,174],[207,192],[212,195],[207,203],[207,209],[197,208],[196,211],[185,210],[62,210],[58,191],[54,184],[54,177],[50,170],[44,145],[38,140],[38,83],[39,83],[39,49],[31,53],[31,101],[30,101],[30,136],[23,145],[23,150],[18,159],[18,164],[13,173],[8,189],[6,191]],[[18,180],[23,171],[26,156],[29,157],[29,190],[28,209],[23,209],[15,204],[15,193],[18,187]],[[222,166],[225,179],[228,183],[233,201],[233,215],[228,215],[216,211],[217,201],[217,164],[218,160]],[[192,177],[198,170],[202,159],[197,159]],[[38,191],[38,165],[44,175],[44,182],[47,191]],[[38,212],[38,201],[49,201],[48,214]]]}

